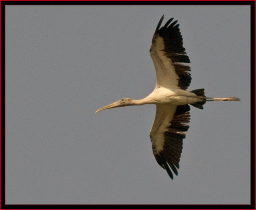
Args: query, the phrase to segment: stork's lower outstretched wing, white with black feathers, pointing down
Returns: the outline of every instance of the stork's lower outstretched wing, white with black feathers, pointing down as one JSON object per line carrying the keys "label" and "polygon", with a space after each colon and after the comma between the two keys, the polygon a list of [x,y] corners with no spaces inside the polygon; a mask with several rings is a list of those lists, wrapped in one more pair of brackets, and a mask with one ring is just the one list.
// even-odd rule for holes
{"label": "stork's lower outstretched wing, white with black feathers, pointing down", "polygon": [[153,154],[172,179],[172,171],[178,175],[182,140],[189,128],[186,124],[190,121],[189,111],[189,105],[156,105],[156,116],[150,130]]}

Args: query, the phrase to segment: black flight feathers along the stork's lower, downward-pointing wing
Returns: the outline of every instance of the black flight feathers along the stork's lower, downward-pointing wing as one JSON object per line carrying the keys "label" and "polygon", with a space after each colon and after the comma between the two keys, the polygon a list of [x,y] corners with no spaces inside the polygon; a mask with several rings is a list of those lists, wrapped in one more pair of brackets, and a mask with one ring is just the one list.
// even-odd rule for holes
{"label": "black flight feathers along the stork's lower, downward-pointing wing", "polygon": [[182,140],[186,137],[184,132],[189,129],[189,126],[185,124],[190,121],[189,111],[189,105],[177,106],[168,131],[164,132],[163,150],[157,153],[153,148],[157,163],[166,169],[172,179],[172,171],[178,175],[177,168],[179,168],[179,158],[182,152]]}

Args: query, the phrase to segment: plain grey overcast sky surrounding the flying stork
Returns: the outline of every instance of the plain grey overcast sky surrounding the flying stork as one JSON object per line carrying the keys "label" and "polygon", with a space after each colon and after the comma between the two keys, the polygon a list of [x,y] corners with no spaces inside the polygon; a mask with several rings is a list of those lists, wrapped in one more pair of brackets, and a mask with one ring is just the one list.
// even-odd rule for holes
{"label": "plain grey overcast sky surrounding the flying stork", "polygon": [[[180,24],[191,107],[179,175],[156,163],[155,105],[104,110],[155,87],[159,19]],[[249,6],[6,6],[6,204],[249,204]]]}

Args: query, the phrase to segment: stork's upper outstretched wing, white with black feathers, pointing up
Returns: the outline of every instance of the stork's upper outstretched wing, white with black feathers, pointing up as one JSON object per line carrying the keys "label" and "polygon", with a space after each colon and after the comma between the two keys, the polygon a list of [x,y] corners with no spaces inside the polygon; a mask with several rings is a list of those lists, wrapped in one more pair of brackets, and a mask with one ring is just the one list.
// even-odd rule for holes
{"label": "stork's upper outstretched wing, white with black feathers, pointing up", "polygon": [[182,46],[182,36],[179,24],[169,19],[160,28],[164,16],[160,19],[152,39],[150,56],[156,68],[156,86],[161,85],[168,89],[187,89],[190,85],[190,67],[185,63],[190,60]]}

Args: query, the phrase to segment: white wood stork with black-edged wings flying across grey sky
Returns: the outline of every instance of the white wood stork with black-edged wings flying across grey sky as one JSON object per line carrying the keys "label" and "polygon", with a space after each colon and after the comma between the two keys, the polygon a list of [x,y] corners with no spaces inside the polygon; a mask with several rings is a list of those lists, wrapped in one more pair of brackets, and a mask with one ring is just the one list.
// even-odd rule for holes
{"label": "white wood stork with black-edged wings flying across grey sky", "polygon": [[156,27],[150,48],[150,56],[156,68],[156,87],[153,92],[141,100],[122,98],[98,109],[95,113],[121,106],[155,104],[156,115],[150,130],[153,154],[157,163],[173,179],[172,171],[178,175],[182,140],[185,138],[184,132],[189,128],[189,105],[203,109],[206,101],[240,99],[206,97],[204,89],[186,90],[191,82],[191,70],[185,63],[190,63],[190,60],[182,46],[179,24],[171,18],[160,28],[163,19],[164,15]]}

